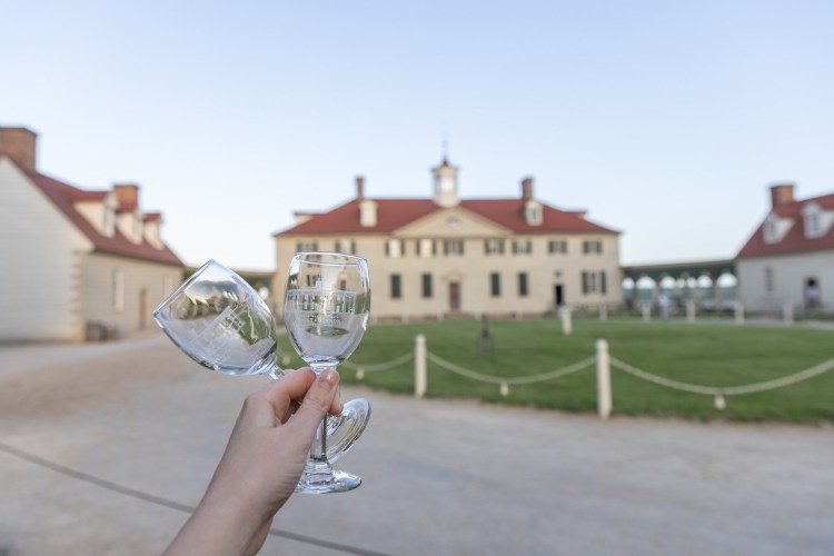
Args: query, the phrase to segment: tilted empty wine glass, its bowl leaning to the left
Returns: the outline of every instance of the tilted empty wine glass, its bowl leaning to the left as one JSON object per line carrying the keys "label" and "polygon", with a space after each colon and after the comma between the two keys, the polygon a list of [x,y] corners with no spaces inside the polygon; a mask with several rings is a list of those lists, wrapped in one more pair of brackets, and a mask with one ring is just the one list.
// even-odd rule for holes
{"label": "tilted empty wine glass, its bowl leaning to the left", "polygon": [[[224,375],[284,375],[278,366],[277,330],[269,307],[249,284],[209,260],[153,309],[173,344],[203,367]],[[335,461],[361,434],[364,401],[328,416],[327,457]]]}

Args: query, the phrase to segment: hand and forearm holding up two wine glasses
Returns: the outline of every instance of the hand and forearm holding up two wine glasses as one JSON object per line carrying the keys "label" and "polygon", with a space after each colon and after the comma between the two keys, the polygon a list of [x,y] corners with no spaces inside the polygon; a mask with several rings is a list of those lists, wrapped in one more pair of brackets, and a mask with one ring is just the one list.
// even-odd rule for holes
{"label": "hand and forearm holding up two wine glasses", "polygon": [[[339,375],[308,368],[250,394],[206,495],[166,554],[255,554],[295,490]],[[301,399],[301,401],[297,401]]]}

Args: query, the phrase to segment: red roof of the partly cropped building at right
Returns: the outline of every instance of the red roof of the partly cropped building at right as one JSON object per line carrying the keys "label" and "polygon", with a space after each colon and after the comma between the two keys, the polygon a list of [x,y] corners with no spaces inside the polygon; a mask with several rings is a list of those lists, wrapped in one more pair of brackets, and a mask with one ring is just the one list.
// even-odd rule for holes
{"label": "red roof of the partly cropped building at right", "polygon": [[802,209],[806,205],[815,202],[823,210],[834,210],[834,193],[813,197],[802,201],[793,201],[780,207],[775,207],[771,214],[778,218],[793,220],[793,226],[785,234],[781,241],[775,244],[765,244],[763,228],[765,220],[756,228],[753,236],[742,247],[736,255],[737,259],[749,257],[770,257],[774,255],[794,255],[800,252],[834,250],[834,226],[827,232],[818,238],[805,237],[805,226],[803,224]]}

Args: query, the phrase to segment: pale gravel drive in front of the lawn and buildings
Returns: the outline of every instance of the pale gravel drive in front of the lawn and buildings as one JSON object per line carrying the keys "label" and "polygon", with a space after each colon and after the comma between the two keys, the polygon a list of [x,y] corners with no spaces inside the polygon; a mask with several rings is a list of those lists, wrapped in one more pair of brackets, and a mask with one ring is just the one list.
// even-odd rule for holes
{"label": "pale gravel drive in front of the lawn and buildings", "polygon": [[[159,554],[186,514],[9,447],[193,505],[264,381],[203,371],[157,334],[0,346],[0,554]],[[834,554],[831,426],[600,421],[342,391],[356,396],[374,416],[337,467],[365,484],[295,496],[262,554]]]}

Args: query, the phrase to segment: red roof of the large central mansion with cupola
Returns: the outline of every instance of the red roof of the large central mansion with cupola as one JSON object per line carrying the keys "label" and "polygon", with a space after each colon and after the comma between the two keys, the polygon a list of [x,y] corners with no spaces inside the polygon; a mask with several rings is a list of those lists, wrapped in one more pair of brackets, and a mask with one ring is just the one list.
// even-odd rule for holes
{"label": "red roof of the large central mansion with cupola", "polygon": [[[377,203],[377,225],[364,227],[359,222],[359,200],[353,199],[335,209],[317,215],[287,230],[282,235],[318,234],[390,234],[443,207],[431,199],[369,199]],[[619,234],[583,217],[582,212],[559,210],[542,203],[543,221],[540,226],[529,226],[524,219],[525,199],[468,199],[461,200],[459,207],[492,220],[498,226],[515,234]]]}

